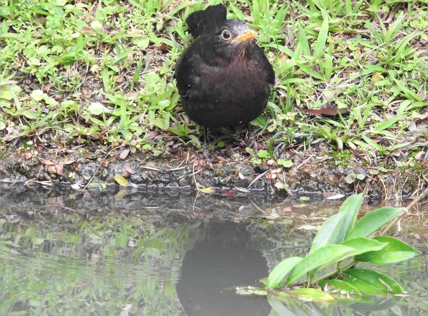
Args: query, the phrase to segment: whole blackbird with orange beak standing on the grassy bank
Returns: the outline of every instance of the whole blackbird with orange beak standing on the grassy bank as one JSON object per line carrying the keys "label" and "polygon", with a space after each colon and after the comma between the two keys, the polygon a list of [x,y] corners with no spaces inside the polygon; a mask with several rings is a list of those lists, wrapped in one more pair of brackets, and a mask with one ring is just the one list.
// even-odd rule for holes
{"label": "whole blackbird with orange beak standing on the grassy bank", "polygon": [[262,114],[275,82],[271,64],[253,41],[256,32],[226,14],[221,4],[190,14],[186,23],[195,40],[175,65],[181,104],[205,127],[204,145],[207,128],[247,124]]}

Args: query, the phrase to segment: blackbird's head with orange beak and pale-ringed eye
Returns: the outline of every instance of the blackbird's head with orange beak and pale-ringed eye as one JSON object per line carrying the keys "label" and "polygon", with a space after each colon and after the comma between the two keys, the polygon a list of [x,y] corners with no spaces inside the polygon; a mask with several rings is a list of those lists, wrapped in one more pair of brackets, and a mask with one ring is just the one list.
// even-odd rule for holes
{"label": "blackbird's head with orange beak and pale-ringed eye", "polygon": [[244,21],[225,20],[214,31],[213,53],[230,61],[244,51],[244,48],[256,35],[257,33],[250,29]]}

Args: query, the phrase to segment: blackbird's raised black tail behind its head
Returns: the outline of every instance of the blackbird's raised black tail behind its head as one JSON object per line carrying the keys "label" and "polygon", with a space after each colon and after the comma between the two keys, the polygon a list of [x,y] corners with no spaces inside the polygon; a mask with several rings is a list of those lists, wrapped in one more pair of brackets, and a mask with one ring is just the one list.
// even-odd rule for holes
{"label": "blackbird's raised black tail behind its head", "polygon": [[189,26],[190,34],[193,38],[197,38],[199,35],[217,29],[217,25],[226,20],[226,15],[226,6],[217,4],[216,6],[209,6],[205,10],[191,13],[187,17],[186,23]]}

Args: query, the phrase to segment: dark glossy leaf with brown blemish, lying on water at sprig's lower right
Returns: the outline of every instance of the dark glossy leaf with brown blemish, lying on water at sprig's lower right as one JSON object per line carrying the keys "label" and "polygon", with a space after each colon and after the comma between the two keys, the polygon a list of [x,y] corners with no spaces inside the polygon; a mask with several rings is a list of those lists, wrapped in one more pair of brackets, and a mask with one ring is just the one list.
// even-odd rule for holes
{"label": "dark glossy leaf with brown blemish, lying on water at sprig's lower right", "polygon": [[389,276],[368,269],[342,271],[343,280],[365,294],[403,293],[401,286]]}

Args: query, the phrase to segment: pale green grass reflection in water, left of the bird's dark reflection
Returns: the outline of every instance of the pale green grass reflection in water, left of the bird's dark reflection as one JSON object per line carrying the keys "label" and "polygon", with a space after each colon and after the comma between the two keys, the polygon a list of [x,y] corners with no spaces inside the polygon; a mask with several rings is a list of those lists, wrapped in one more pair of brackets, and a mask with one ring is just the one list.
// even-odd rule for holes
{"label": "pale green grass reflection in water, left of the bird's dark reflection", "polygon": [[179,314],[175,282],[198,238],[187,225],[70,222],[0,224],[0,315]]}

